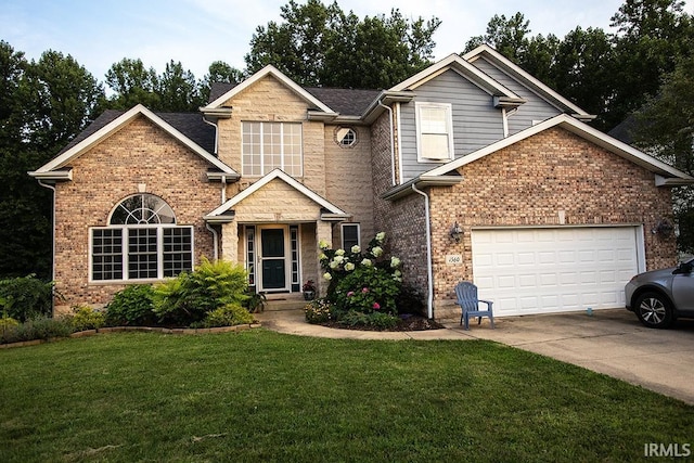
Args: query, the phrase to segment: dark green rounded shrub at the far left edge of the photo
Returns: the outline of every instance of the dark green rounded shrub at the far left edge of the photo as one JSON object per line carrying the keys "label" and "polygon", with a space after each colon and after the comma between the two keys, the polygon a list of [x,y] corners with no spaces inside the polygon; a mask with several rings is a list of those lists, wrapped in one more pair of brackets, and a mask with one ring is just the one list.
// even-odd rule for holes
{"label": "dark green rounded shrub at the far left edge of the photo", "polygon": [[38,316],[50,316],[53,282],[30,274],[0,280],[0,312],[21,322]]}

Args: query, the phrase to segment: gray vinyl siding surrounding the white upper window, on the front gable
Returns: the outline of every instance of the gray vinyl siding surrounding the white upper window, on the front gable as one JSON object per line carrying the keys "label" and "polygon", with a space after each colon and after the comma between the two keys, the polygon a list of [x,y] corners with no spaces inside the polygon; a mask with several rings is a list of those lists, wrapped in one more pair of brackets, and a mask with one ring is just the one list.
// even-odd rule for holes
{"label": "gray vinyl siding surrounding the white upper window, on the front gable", "polygon": [[414,103],[450,103],[453,119],[455,157],[464,156],[503,138],[501,111],[493,107],[492,97],[454,70],[417,87],[415,99],[400,106],[400,147],[402,177],[408,181],[441,163],[419,163]]}

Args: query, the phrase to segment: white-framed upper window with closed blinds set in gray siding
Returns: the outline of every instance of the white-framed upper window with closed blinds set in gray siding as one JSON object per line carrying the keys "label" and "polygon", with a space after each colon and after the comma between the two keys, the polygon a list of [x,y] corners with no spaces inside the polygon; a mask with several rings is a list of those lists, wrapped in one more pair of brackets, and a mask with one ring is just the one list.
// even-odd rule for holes
{"label": "white-framed upper window with closed blinds set in gray siding", "polygon": [[453,117],[450,103],[416,102],[416,150],[420,162],[453,159]]}

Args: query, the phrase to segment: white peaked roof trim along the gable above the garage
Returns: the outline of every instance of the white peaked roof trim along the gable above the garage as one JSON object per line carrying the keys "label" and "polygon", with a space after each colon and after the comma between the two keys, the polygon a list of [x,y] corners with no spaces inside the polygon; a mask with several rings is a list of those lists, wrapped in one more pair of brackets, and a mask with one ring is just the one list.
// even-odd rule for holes
{"label": "white peaked roof trim along the gable above the garage", "polygon": [[558,116],[552,117],[551,119],[547,119],[536,126],[531,126],[509,138],[505,138],[488,146],[485,146],[480,150],[477,150],[468,155],[459,157],[455,160],[452,160],[442,166],[436,167],[427,172],[422,173],[422,177],[445,176],[451,170],[463,167],[470,163],[474,163],[477,159],[480,159],[489,154],[496,153],[499,150],[507,147],[527,138],[530,138],[544,130],[551,129],[552,127],[561,127],[565,130],[568,130],[571,133],[589,142],[595,143],[599,146],[602,146],[605,150],[618,156],[621,156],[627,160],[630,160],[637,165],[640,165],[641,167],[644,167],[651,170],[652,172],[659,173],[659,175],[666,173],[666,175],[685,180],[687,183],[694,183],[694,177],[689,176],[687,173],[684,173],[681,170],[678,170],[674,167],[669,166],[663,163],[661,160],[658,160],[655,157],[652,157],[634,149],[633,146],[630,146],[624,142],[620,142],[619,140],[614,139],[608,134],[603,133],[600,130],[594,129],[589,125],[581,123],[580,120],[577,120],[574,117],[568,116],[566,114],[560,114]]}

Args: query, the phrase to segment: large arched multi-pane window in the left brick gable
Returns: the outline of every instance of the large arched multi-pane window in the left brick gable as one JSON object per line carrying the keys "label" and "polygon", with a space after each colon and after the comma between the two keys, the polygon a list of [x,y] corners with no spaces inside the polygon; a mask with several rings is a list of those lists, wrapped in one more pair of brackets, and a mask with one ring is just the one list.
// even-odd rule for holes
{"label": "large arched multi-pane window in the left brick gable", "polygon": [[111,211],[108,227],[91,229],[91,280],[160,280],[193,268],[193,228],[153,194],[134,194]]}

